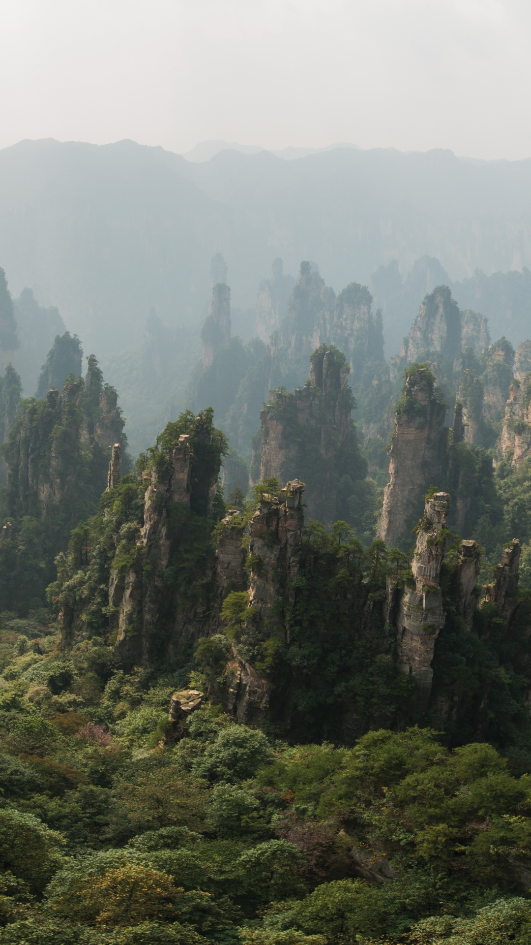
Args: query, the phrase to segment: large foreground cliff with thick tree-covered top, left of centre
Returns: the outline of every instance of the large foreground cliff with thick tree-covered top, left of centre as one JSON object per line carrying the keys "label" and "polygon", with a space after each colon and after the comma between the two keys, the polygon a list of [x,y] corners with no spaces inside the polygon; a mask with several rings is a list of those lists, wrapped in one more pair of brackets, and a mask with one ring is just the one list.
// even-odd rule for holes
{"label": "large foreground cliff with thick tree-covered top, left of centre", "polygon": [[[225,440],[214,430],[212,411],[182,415],[161,439],[143,472],[142,522],[126,536],[130,563],[124,569],[118,556],[111,564],[111,627],[124,665],[167,659],[212,632],[219,616],[209,590],[215,565],[208,535]],[[178,563],[186,556],[191,573]],[[188,583],[200,588],[201,580],[205,590],[190,597]]]}

